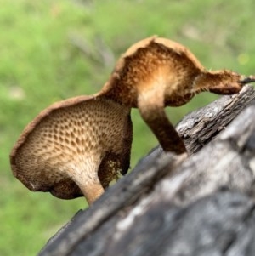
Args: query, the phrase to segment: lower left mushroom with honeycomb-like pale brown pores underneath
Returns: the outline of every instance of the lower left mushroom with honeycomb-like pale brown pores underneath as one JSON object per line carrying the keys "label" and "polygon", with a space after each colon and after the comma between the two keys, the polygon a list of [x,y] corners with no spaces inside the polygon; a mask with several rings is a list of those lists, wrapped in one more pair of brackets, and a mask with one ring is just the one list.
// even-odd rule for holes
{"label": "lower left mushroom with honeycomb-like pale brown pores underneath", "polygon": [[119,172],[127,173],[130,108],[80,96],[60,101],[30,122],[10,154],[13,174],[31,191],[94,202]]}

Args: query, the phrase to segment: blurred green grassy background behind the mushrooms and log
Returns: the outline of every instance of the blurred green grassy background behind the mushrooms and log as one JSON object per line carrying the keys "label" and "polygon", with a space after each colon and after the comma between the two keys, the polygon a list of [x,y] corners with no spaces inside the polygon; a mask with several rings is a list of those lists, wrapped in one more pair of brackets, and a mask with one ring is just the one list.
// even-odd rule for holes
{"label": "blurred green grassy background behind the mushrooms and log", "polygon": [[[31,192],[11,174],[8,154],[22,129],[56,100],[93,94],[136,41],[159,35],[189,47],[208,69],[255,73],[253,0],[0,0],[0,255],[36,255],[80,208]],[[168,108],[173,122],[216,99],[201,94]],[[132,167],[157,145],[133,111]]]}

